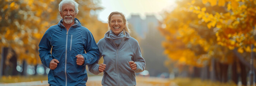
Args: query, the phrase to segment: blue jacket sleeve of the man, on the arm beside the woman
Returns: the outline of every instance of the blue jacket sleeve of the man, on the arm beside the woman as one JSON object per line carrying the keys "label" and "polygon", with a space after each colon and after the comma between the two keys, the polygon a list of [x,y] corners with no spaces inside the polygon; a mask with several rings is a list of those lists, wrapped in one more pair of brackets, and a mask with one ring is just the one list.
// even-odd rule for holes
{"label": "blue jacket sleeve of the man, on the arm beside the woman", "polygon": [[85,65],[91,65],[99,60],[99,48],[93,38],[93,34],[90,31],[86,32],[86,42],[84,44],[84,50],[86,53],[82,54],[85,59]]}

